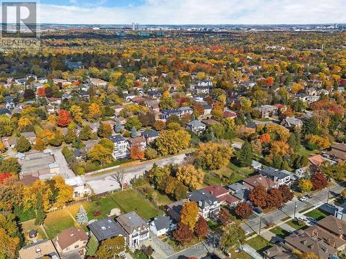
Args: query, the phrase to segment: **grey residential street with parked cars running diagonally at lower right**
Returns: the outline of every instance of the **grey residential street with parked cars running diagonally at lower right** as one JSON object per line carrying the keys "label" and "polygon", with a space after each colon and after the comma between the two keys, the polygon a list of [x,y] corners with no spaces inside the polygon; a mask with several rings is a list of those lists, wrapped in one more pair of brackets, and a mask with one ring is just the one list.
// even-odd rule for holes
{"label": "grey residential street with parked cars running diagonally at lower right", "polygon": [[[330,193],[329,193],[329,198],[338,195],[343,191],[345,188],[345,182],[343,182],[343,186],[340,186],[336,184],[335,186],[332,186],[330,188]],[[308,209],[309,207],[315,206],[318,207],[325,202],[327,202],[327,197],[328,197],[328,191],[329,189],[324,189],[318,193],[315,193],[313,195],[313,198],[310,198],[309,200],[306,200],[305,202],[300,202],[299,200],[292,201],[289,204],[286,204],[286,207],[282,210],[277,209],[275,211],[272,211],[271,213],[267,213],[266,215],[262,216],[262,233],[265,231],[263,228],[266,226],[268,223],[280,223],[282,219],[291,217],[293,218],[294,216],[294,211],[295,216],[299,217],[300,213],[299,211],[302,211],[304,209]],[[296,202],[296,203],[295,203]],[[296,204],[296,209],[295,209],[295,204]],[[260,217],[255,218],[254,220],[250,220],[246,222],[246,224],[243,224],[243,229],[245,231],[248,231],[250,233],[256,232],[259,233],[260,231]]]}

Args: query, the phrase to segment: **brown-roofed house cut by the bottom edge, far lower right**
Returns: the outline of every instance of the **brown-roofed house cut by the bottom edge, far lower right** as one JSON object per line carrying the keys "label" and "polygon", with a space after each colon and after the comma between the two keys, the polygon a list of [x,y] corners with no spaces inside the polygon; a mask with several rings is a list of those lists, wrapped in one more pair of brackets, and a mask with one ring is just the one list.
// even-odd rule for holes
{"label": "brown-roofed house cut by the bottom edge, far lower right", "polygon": [[298,230],[284,239],[284,246],[291,250],[298,250],[301,253],[315,253],[318,258],[327,259],[329,256],[338,252],[337,249],[331,247],[324,240],[319,240],[314,236],[310,236],[307,232]]}

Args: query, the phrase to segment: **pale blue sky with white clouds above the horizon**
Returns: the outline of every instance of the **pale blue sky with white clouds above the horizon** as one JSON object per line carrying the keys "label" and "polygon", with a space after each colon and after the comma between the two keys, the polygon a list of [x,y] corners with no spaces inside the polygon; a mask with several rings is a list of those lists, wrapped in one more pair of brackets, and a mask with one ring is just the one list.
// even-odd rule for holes
{"label": "pale blue sky with white clouds above the horizon", "polygon": [[38,6],[39,23],[346,23],[346,0],[40,0]]}

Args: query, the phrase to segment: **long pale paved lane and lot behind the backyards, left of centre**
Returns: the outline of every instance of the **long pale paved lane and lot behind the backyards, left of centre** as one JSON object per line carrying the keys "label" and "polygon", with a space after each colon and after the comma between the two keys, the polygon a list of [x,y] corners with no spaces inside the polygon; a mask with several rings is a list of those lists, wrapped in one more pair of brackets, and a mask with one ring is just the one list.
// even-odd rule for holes
{"label": "long pale paved lane and lot behind the backyards, left of centre", "polygon": [[[166,164],[181,164],[185,157],[185,154],[175,155],[173,157],[165,157],[161,160],[155,160],[154,162],[149,161],[135,166],[124,166],[122,169],[125,171],[125,182],[129,183],[132,178],[143,175],[145,171],[152,169],[154,163],[158,166],[164,166]],[[96,194],[120,189],[118,182],[116,182],[116,180],[111,176],[114,172],[116,172],[116,170],[99,175],[83,175],[82,180],[84,183],[89,184],[91,189],[93,189],[93,192]]]}

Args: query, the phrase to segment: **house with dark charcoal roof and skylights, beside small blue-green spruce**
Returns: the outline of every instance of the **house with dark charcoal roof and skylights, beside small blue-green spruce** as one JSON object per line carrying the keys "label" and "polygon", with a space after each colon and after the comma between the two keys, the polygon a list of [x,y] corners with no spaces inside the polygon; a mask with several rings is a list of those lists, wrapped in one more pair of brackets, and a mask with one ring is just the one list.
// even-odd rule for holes
{"label": "house with dark charcoal roof and skylights, beside small blue-green spruce", "polygon": [[127,240],[127,234],[120,227],[120,224],[113,220],[113,218],[105,218],[92,222],[88,225],[91,236],[94,236],[98,242],[107,238],[114,238],[116,236],[122,236]]}

